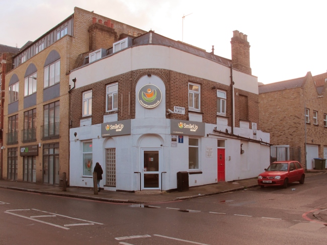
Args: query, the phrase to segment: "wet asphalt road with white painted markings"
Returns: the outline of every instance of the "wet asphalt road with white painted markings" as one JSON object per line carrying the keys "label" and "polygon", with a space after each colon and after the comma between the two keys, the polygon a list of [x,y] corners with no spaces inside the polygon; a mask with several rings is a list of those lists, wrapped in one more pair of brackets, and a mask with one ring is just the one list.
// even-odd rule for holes
{"label": "wet asphalt road with white painted markings", "polygon": [[0,244],[326,244],[326,189],[324,174],[147,206],[0,189]]}

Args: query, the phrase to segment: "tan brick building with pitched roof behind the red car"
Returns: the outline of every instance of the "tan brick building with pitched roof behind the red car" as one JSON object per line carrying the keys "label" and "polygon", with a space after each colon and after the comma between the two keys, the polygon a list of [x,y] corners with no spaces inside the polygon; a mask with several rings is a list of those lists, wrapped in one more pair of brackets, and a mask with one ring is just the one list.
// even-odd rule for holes
{"label": "tan brick building with pitched roof behind the red car", "polygon": [[[327,156],[327,73],[259,86],[260,126],[271,143],[300,148],[305,169]],[[306,154],[305,154],[306,152]]]}

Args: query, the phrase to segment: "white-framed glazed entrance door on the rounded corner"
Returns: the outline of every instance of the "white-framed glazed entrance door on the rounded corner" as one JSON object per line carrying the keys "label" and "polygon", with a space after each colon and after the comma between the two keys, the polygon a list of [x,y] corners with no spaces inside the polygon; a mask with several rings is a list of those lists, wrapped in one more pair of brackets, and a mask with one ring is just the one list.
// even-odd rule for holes
{"label": "white-framed glazed entrance door on the rounded corner", "polygon": [[142,189],[160,189],[159,149],[142,149]]}

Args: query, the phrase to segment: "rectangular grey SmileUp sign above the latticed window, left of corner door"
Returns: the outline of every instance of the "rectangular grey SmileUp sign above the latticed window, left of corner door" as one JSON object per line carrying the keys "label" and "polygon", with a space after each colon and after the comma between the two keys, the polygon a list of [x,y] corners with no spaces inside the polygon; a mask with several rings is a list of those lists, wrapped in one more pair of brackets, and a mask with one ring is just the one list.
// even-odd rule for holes
{"label": "rectangular grey SmileUp sign above the latticed window, left of corner door", "polygon": [[117,135],[131,134],[131,120],[121,120],[101,124],[101,136],[111,137]]}

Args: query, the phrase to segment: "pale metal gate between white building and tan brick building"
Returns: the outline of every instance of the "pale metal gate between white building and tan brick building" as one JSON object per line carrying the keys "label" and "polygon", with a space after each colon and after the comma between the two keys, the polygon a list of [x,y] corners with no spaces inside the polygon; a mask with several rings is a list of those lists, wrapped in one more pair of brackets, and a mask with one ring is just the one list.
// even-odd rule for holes
{"label": "pale metal gate between white building and tan brick building", "polygon": [[289,147],[289,145],[270,146],[270,163],[289,160],[301,162],[301,148]]}

